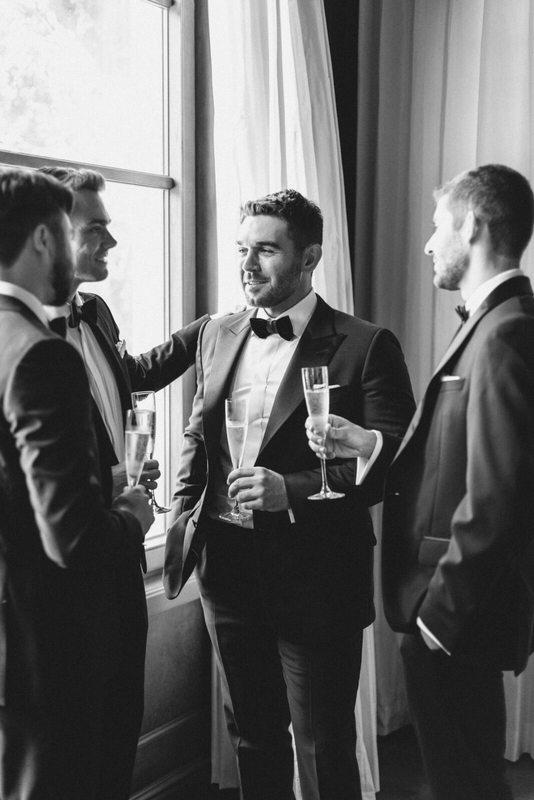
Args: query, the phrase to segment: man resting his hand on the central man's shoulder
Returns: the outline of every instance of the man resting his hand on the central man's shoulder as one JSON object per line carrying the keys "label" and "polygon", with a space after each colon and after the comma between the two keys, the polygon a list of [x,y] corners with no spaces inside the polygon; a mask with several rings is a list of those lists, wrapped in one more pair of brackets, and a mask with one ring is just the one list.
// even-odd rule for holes
{"label": "man resting his hand on the central man's shoulder", "polygon": [[[67,341],[82,355],[93,396],[94,428],[102,474],[113,475],[108,499],[126,485],[124,421],[131,408],[132,391],[158,391],[179,378],[195,361],[200,326],[207,315],[172,334],[168,342],[139,356],[131,356],[121,341],[117,323],[98,294],[78,292],[82,282],[107,277],[107,254],[117,242],[110,234],[110,217],[102,200],[102,175],[92,170],[43,167],[74,193],[70,214],[74,230],[74,298],[69,305],[47,309],[50,318],[68,318]],[[159,478],[155,459],[146,462],[141,482],[155,489]],[[143,553],[144,561],[144,553]],[[147,601],[143,574],[137,565],[124,565],[114,575],[114,590],[121,608],[122,671],[107,701],[107,765],[102,800],[126,800],[143,722],[144,674],[147,649]]]}

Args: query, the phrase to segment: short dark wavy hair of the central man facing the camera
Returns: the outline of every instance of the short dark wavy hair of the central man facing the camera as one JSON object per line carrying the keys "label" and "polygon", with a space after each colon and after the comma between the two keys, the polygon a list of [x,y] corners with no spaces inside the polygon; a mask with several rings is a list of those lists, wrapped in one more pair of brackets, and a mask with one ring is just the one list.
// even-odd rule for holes
{"label": "short dark wavy hair of the central man facing the camera", "polygon": [[278,217],[287,223],[287,233],[297,250],[308,245],[323,244],[323,214],[315,202],[295,189],[283,189],[266,194],[259,200],[249,200],[241,206],[239,222],[245,217]]}

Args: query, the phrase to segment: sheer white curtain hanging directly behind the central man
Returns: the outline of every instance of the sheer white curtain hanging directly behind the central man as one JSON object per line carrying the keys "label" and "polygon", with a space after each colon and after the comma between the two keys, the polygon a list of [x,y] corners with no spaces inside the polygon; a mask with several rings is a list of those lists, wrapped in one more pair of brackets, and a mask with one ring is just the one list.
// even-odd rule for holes
{"label": "sheer white curtain hanging directly behind the central man", "polygon": [[[286,187],[323,211],[323,259],[315,290],[352,312],[343,174],[322,0],[208,0],[214,107],[219,308],[242,302],[235,266],[239,206]],[[366,800],[378,790],[375,662],[364,638],[355,709]],[[236,785],[214,675],[212,781]],[[299,793],[298,786],[296,791]]]}

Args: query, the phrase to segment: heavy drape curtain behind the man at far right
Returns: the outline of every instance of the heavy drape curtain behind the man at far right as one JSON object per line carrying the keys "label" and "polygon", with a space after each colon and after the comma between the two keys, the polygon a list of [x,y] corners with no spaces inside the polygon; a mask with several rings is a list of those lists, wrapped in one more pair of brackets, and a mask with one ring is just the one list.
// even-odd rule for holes
{"label": "heavy drape curtain behind the man at far right", "polygon": [[[423,248],[432,189],[500,162],[534,179],[534,3],[359,0],[355,314],[399,336],[417,398],[457,326]],[[534,248],[523,267],[534,277]],[[379,576],[377,575],[379,594]],[[377,603],[380,606],[380,603]],[[394,634],[375,622],[379,733],[407,721]],[[505,675],[507,758],[534,755],[534,664]]]}

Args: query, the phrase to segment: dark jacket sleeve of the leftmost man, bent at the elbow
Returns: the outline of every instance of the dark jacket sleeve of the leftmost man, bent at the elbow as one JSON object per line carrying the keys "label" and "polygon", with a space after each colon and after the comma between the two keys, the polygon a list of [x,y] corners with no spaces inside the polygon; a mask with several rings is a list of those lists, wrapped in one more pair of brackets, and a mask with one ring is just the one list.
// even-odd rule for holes
{"label": "dark jacket sleeve of the leftmost man, bent at the elbow", "polygon": [[76,350],[58,338],[30,347],[4,405],[48,558],[84,568],[105,558],[139,562],[138,520],[104,506],[89,384]]}

